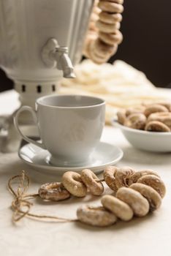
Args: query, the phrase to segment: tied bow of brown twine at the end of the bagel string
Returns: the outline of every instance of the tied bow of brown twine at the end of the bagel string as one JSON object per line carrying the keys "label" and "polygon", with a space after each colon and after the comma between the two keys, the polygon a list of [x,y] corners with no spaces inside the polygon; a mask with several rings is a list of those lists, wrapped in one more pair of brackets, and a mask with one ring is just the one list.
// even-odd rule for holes
{"label": "tied bow of brown twine at the end of the bagel string", "polygon": [[[15,191],[15,189],[12,188],[12,181],[16,181],[19,179],[18,187]],[[76,222],[77,219],[65,219],[62,217],[56,217],[56,216],[48,216],[48,215],[41,215],[41,214],[31,214],[30,209],[31,206],[33,206],[33,203],[29,202],[28,199],[39,197],[39,194],[26,194],[28,187],[30,184],[29,177],[25,174],[25,171],[23,170],[21,174],[12,176],[12,178],[9,178],[8,181],[8,189],[9,192],[12,193],[14,196],[14,200],[12,200],[12,210],[14,211],[12,214],[12,221],[18,222],[20,219],[23,219],[23,217],[33,217],[37,219],[54,219],[58,222]]]}

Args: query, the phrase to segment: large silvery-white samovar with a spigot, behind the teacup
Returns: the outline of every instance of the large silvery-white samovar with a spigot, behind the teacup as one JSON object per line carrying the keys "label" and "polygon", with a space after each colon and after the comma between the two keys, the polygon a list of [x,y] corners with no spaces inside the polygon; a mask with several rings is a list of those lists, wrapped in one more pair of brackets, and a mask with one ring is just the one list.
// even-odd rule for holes
{"label": "large silvery-white samovar with a spigot, behind the teacup", "polygon": [[[93,0],[0,0],[0,66],[14,80],[21,105],[58,92],[58,81],[74,77],[82,56]],[[8,140],[18,140],[12,121]],[[20,120],[28,125],[25,113]],[[16,136],[16,138],[15,138]]]}

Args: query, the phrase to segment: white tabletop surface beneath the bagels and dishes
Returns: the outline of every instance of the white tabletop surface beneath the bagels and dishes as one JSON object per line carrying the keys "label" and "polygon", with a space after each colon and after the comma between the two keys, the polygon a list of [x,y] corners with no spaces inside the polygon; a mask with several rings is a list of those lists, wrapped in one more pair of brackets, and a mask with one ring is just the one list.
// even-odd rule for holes
{"label": "white tabletop surface beneath the bagels and dishes", "polygon": [[[0,105],[5,113],[8,104],[17,97],[13,91],[0,94]],[[2,103],[3,102],[3,103]],[[15,102],[16,103],[16,102]],[[15,107],[15,104],[12,108]],[[3,113],[1,108],[1,112]],[[121,147],[123,159],[118,166],[129,165],[136,170],[156,170],[167,186],[161,208],[143,218],[130,222],[117,222],[111,227],[91,227],[74,222],[40,222],[24,218],[12,224],[10,204],[12,195],[7,190],[7,181],[21,170],[31,178],[29,192],[37,193],[39,185],[56,181],[58,176],[48,176],[32,170],[21,162],[17,153],[0,154],[0,249],[1,256],[9,255],[171,255],[171,154],[154,154],[140,151],[126,142],[121,132],[105,127],[102,141]],[[112,193],[106,189],[105,193]],[[83,199],[71,198],[61,203],[42,202],[34,199],[31,211],[61,217],[76,217],[77,207],[83,204],[99,205],[100,198],[88,195]]]}

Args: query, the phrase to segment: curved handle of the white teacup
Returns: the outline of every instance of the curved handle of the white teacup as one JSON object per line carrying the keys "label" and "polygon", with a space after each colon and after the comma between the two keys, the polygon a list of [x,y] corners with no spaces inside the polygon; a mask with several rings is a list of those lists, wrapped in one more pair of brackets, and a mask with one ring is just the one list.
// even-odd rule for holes
{"label": "curved handle of the white teacup", "polygon": [[33,116],[34,119],[34,123],[37,124],[37,114],[36,112],[28,106],[22,106],[17,113],[15,114],[14,117],[14,124],[15,124],[15,128],[18,130],[18,132],[20,133],[21,137],[26,140],[28,143],[33,143],[36,146],[39,146],[40,148],[46,149],[43,143],[39,143],[36,140],[31,140],[30,138],[28,138],[26,135],[23,135],[23,132],[20,131],[20,127],[18,124],[18,118],[20,116],[20,113],[22,113],[23,111],[28,111],[31,113],[31,115]]}

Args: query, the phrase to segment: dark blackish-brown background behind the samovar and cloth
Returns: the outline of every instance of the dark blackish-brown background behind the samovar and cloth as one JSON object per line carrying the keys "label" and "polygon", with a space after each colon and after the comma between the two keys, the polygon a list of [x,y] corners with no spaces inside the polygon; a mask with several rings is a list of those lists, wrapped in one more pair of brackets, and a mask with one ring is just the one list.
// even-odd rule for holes
{"label": "dark blackish-brown background behind the samovar and cloth", "polygon": [[[171,88],[171,1],[125,0],[123,42],[110,59],[122,59],[142,70],[153,84]],[[12,88],[0,70],[0,91]]]}

